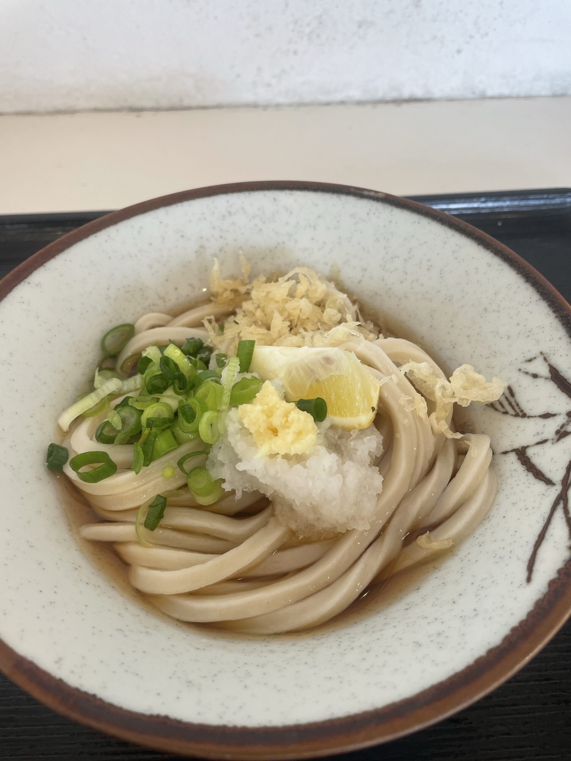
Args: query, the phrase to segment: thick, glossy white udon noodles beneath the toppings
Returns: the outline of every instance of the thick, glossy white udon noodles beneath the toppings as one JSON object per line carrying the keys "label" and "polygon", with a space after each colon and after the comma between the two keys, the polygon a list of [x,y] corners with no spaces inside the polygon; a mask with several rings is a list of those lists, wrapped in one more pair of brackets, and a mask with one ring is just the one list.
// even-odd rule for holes
{"label": "thick, glossy white udon noodles beneath the toppings", "polygon": [[[228,318],[241,309],[243,316],[240,304],[251,291],[245,287],[238,291],[234,289],[234,301],[226,304],[219,299],[177,317],[167,312],[140,317],[116,367],[126,367],[129,357],[169,341],[182,345],[192,337],[212,345],[214,320],[241,327],[241,320],[234,323]],[[186,470],[177,462],[205,450],[200,438],[180,444],[136,473],[132,470],[136,444],[105,444],[95,438],[107,409],[80,416],[69,428],[63,444],[70,458],[97,451],[106,452],[116,463],[116,472],[97,482],[82,480],[69,462],[63,466],[100,519],[81,527],[81,536],[110,543],[128,566],[133,587],[169,616],[252,634],[309,629],[345,610],[373,581],[458,546],[490,511],[496,495],[490,438],[455,433],[451,403],[437,420],[431,413],[438,406],[438,393],[435,396],[423,385],[418,369],[415,376],[400,368],[419,363],[425,374],[442,380],[437,388],[449,390],[442,369],[410,341],[378,336],[375,330],[355,330],[359,314],[347,302],[346,316],[333,320],[337,320],[333,329],[351,328],[344,335],[337,330],[337,348],[352,352],[380,384],[373,425],[382,435],[383,449],[371,466],[378,468],[383,480],[368,528],[299,537],[276,517],[272,496],[260,491],[244,491],[239,497],[222,492],[212,504],[199,504],[187,487]],[[206,318],[210,319],[205,327]],[[320,336],[329,336],[331,324],[321,325],[320,330]],[[244,332],[229,332],[225,338],[229,351]],[[296,345],[300,335],[307,345],[308,333],[299,330],[282,332],[276,343]],[[259,335],[257,340],[270,344],[271,338],[268,333],[265,340]],[[416,377],[416,385],[409,376]],[[426,394],[420,403],[419,392]],[[130,395],[139,393],[143,392]],[[496,384],[491,395],[499,393]],[[120,409],[129,393],[110,396],[110,410]],[[205,466],[207,457],[196,455],[192,465]],[[166,508],[158,527],[148,530],[137,517],[155,495],[166,497]]]}

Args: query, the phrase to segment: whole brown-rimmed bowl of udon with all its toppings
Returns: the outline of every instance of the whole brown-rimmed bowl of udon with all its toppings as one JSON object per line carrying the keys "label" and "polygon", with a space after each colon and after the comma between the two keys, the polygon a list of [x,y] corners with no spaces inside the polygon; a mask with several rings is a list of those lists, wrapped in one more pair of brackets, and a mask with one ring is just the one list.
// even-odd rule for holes
{"label": "whole brown-rimmed bowl of udon with all its toppings", "polygon": [[217,186],[0,298],[0,668],[56,711],[320,756],[474,702],[569,615],[569,306],[469,225]]}

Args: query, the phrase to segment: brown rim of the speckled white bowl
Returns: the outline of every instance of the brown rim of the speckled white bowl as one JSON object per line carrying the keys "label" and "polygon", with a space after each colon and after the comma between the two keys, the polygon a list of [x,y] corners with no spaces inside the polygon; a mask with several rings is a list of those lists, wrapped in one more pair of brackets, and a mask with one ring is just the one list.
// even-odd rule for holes
{"label": "brown rim of the speckled white bowl", "polygon": [[[105,215],[30,256],[0,281],[0,299],[31,272],[73,244],[117,222],[153,209],[208,196],[259,190],[301,190],[355,196],[429,217],[499,256],[547,301],[571,337],[571,307],[531,265],[470,224],[407,199],[346,185],[261,181],[215,185],[151,199]],[[372,711],[343,718],[282,727],[230,727],[174,721],[166,716],[126,711],[69,686],[40,669],[0,640],[0,669],[30,695],[69,718],[132,743],[212,759],[295,759],[325,756],[394,740],[460,711],[512,676],[563,626],[571,613],[571,559],[559,569],[525,619],[474,663],[421,693]]]}

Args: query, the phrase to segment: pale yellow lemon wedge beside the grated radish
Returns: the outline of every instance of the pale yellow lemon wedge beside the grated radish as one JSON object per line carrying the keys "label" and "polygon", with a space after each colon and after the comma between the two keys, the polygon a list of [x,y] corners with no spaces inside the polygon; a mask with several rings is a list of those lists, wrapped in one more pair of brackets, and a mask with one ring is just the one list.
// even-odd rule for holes
{"label": "pale yellow lemon wedge beside the grated radish", "polygon": [[354,431],[367,428],[375,419],[381,384],[352,352],[256,346],[250,372],[262,380],[279,378],[289,402],[321,396],[327,402],[327,417],[336,428]]}

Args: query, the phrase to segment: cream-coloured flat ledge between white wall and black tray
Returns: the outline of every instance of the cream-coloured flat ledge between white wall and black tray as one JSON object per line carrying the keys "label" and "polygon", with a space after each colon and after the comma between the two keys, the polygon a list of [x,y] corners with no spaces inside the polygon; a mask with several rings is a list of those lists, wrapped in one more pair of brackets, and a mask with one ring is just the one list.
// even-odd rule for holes
{"label": "cream-coloured flat ledge between white wall and black tray", "polygon": [[571,97],[0,116],[0,214],[321,180],[397,195],[569,186]]}

